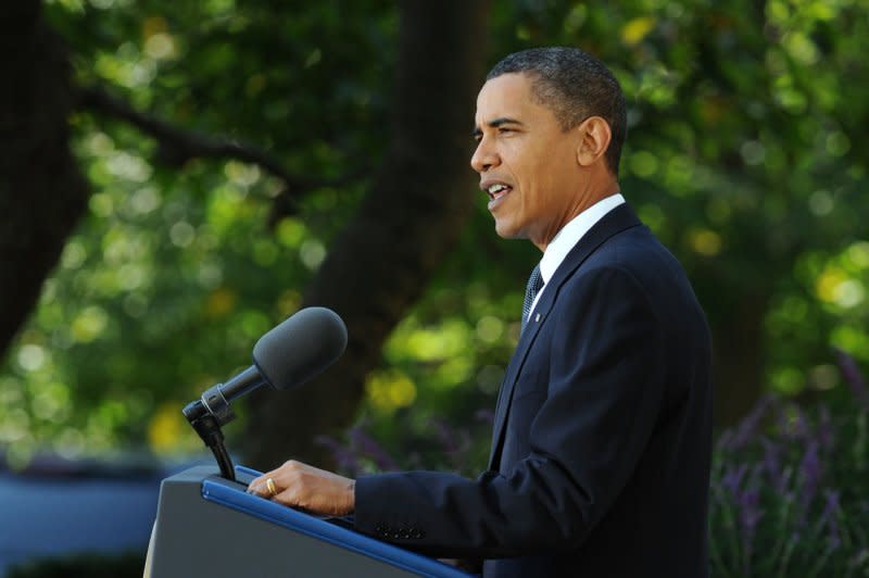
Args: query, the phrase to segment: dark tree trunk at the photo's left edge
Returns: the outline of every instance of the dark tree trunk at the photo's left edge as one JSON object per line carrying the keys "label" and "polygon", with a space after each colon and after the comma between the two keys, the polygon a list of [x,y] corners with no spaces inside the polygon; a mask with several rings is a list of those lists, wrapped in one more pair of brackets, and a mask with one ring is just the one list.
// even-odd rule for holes
{"label": "dark tree trunk at the photo's left edge", "polygon": [[39,2],[0,7],[0,352],[85,213],[88,188],[70,152],[70,70]]}

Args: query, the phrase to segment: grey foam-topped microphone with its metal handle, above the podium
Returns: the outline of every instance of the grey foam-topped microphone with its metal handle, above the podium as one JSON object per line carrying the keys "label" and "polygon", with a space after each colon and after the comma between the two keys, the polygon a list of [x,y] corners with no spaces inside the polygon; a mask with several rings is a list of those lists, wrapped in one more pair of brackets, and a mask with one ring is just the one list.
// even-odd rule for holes
{"label": "grey foam-topped microphone with its metal handle, above the podium", "polygon": [[263,385],[275,389],[300,386],[318,375],[347,349],[347,326],[326,307],[305,307],[269,330],[253,347],[253,365],[225,384],[205,390],[190,402],[184,415],[193,420],[211,414],[218,424],[230,422],[232,400]]}

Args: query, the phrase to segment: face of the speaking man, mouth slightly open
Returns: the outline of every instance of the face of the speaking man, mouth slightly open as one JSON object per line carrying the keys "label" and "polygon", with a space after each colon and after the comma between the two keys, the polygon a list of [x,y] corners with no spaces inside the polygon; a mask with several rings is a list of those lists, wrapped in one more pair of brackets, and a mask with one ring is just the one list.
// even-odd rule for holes
{"label": "face of the speaking man, mouth slightly open", "polygon": [[505,74],[477,97],[477,150],[470,165],[489,193],[489,212],[504,238],[527,238],[541,249],[578,214],[581,131],[562,130],[536,102],[532,78]]}

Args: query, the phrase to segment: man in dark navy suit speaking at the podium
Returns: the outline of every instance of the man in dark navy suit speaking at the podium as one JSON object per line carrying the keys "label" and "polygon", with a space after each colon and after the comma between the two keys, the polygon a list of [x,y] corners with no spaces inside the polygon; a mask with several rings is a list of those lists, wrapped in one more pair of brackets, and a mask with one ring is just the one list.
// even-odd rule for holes
{"label": "man in dark navy suit speaking at the podium", "polygon": [[288,462],[251,491],[486,558],[486,577],[706,576],[709,334],[682,267],[619,193],[618,83],[577,49],[511,54],[480,90],[475,134],[498,234],[543,251],[489,470],[354,482]]}

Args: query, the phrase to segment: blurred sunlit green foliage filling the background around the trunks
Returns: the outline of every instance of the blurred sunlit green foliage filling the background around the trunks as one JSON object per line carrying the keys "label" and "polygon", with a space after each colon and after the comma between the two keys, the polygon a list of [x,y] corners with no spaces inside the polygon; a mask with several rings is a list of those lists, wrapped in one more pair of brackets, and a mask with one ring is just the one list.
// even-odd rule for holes
{"label": "blurred sunlit green foliage filling the background around the trunks", "polygon": [[[790,394],[844,399],[831,344],[869,362],[867,9],[491,9],[492,63],[562,43],[610,65],[630,104],[624,192],[685,264],[714,328],[759,297],[746,332],[763,334],[768,387]],[[77,83],[184,130],[253,143],[313,183],[297,194],[253,164],[179,158],[98,114],[71,120],[90,212],[0,368],[0,445],[18,463],[45,445],[199,448],[179,409],[245,366],[255,339],[298,307],[385,150],[396,9],[53,0],[46,12]],[[317,185],[347,175],[360,176]],[[480,202],[461,247],[368,380],[360,418],[378,439],[425,437],[436,416],[473,422],[494,405],[536,253],[498,239],[482,196],[468,194]]]}

